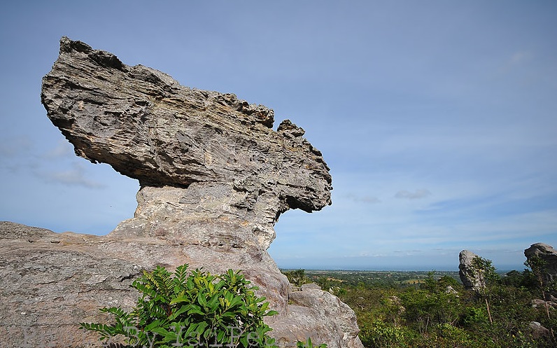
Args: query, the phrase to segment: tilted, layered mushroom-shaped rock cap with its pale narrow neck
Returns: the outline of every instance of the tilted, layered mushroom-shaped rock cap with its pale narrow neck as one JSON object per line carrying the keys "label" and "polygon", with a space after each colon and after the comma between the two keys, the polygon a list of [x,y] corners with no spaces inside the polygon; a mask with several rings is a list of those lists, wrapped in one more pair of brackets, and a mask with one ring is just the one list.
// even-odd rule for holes
{"label": "tilted, layered mushroom-shaped rock cap with its pale narrow neck", "polygon": [[[329,168],[304,130],[285,120],[274,131],[272,109],[236,95],[184,87],[64,37],[41,100],[77,155],[139,180],[137,221],[120,234],[180,239],[199,216],[240,225],[267,249],[281,213],[331,203]],[[155,221],[168,209],[190,221],[162,232]]]}

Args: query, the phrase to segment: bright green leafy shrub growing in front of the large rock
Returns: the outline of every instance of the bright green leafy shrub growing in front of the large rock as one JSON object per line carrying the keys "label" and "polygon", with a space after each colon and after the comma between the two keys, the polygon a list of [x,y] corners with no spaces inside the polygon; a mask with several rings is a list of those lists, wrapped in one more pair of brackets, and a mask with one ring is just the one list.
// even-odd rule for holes
{"label": "bright green leafy shrub growing in front of the large rock", "polygon": [[263,318],[277,312],[249,284],[240,271],[213,275],[197,269],[188,274],[187,264],[174,273],[157,267],[133,282],[140,296],[132,312],[105,307],[101,312],[113,314],[115,323],[80,327],[108,342],[122,335],[130,344],[126,347],[276,347]]}

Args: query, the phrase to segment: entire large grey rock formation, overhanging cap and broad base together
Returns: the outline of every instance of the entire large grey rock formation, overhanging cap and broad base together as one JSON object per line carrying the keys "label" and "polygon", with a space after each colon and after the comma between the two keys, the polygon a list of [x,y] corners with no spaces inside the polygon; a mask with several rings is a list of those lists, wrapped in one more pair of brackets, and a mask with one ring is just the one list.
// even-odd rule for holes
{"label": "entire large grey rock formation, overhanging cap and broad base together", "polygon": [[283,212],[331,202],[328,167],[302,128],[285,120],[274,131],[265,106],[183,87],[67,38],[41,99],[77,155],[141,189],[134,218],[103,237],[0,224],[3,347],[47,337],[52,347],[100,347],[78,322],[106,320],[100,307],[131,306],[129,283],[141,269],[183,263],[243,270],[279,312],[268,323],[282,347],[308,336],[362,347],[348,306],[317,289],[292,293],[267,253]]}

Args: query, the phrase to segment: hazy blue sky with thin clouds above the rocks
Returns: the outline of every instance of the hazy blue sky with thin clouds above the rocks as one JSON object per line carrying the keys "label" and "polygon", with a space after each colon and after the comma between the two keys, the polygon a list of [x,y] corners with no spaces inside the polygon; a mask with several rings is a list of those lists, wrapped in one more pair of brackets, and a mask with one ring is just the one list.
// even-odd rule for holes
{"label": "hazy blue sky with thin clouds above the rocks", "polygon": [[555,1],[11,1],[0,11],[0,220],[106,234],[139,184],[73,155],[41,78],[61,36],[290,118],[333,204],[288,211],[280,267],[521,270],[557,246]]}

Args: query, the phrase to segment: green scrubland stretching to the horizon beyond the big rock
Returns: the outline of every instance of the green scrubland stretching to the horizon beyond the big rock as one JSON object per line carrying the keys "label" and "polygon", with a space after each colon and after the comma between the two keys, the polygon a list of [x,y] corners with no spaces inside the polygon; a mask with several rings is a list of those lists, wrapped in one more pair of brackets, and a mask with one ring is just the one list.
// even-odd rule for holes
{"label": "green scrubland stretching to the horizon beyond the big rock", "polygon": [[[498,274],[490,260],[475,264],[485,288],[466,290],[458,272],[285,271],[338,295],[358,317],[367,348],[557,347],[550,306],[533,307],[551,289],[540,265]],[[294,276],[294,277],[293,277]],[[549,329],[537,335],[530,323]]]}

